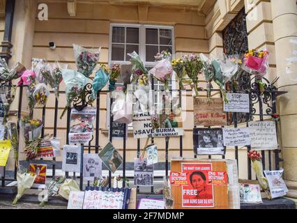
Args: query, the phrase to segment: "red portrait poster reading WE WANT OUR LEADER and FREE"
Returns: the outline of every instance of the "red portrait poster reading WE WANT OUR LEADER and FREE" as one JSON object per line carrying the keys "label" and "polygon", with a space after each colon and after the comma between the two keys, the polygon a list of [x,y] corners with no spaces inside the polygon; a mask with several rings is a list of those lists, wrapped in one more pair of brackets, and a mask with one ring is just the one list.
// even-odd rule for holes
{"label": "red portrait poster reading WE WANT OUR LEADER and FREE", "polygon": [[182,186],[183,208],[213,208],[213,183],[211,163],[181,163],[182,173],[187,176],[188,185]]}

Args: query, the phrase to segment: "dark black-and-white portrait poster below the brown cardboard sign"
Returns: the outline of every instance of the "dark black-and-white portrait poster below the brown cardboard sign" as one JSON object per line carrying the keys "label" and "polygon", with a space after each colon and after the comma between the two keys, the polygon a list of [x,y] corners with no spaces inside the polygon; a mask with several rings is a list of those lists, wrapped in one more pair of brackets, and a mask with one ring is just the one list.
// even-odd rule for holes
{"label": "dark black-and-white portrait poster below the brown cardboard sign", "polygon": [[221,128],[195,128],[193,142],[196,155],[224,155],[225,153]]}

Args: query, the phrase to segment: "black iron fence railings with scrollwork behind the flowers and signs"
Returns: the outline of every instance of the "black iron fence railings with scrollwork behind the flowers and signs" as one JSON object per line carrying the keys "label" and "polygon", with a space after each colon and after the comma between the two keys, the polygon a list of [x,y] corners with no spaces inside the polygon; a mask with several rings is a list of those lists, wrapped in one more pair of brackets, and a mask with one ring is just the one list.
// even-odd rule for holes
{"label": "black iron fence railings with scrollwork behind the flowers and signs", "polygon": [[[266,84],[266,88],[264,89],[264,91],[261,91],[259,84],[257,84],[257,82],[254,82],[253,79],[252,80],[248,80],[248,85],[250,86],[249,88],[245,88],[244,90],[241,91],[236,91],[235,89],[230,89],[230,92],[234,92],[234,93],[248,93],[250,95],[250,113],[249,114],[237,114],[237,113],[231,113],[231,114],[227,114],[227,116],[229,117],[229,124],[233,125],[235,128],[238,127],[238,124],[241,123],[242,125],[246,125],[248,127],[248,122],[251,121],[253,118],[254,120],[259,120],[259,121],[263,121],[264,119],[268,119],[271,118],[271,116],[273,114],[277,113],[277,96],[282,95],[283,91],[277,91],[277,88],[271,84],[270,82],[268,82],[267,79],[262,79],[262,82],[265,82]],[[152,80],[153,83],[153,80]],[[251,84],[252,83],[252,84]],[[243,84],[247,85],[247,82],[243,81]],[[152,86],[152,90],[153,90],[153,84]],[[20,120],[21,118],[21,111],[22,111],[22,98],[23,98],[23,89],[26,88],[26,86],[20,86],[20,95],[19,95],[19,102],[18,102],[18,109],[17,109],[17,118],[18,120]],[[82,109],[82,107],[86,106],[86,105],[91,105],[91,102],[89,101],[89,97],[88,94],[91,92],[91,84],[87,84],[86,87],[84,88],[84,91],[86,91],[85,93],[85,97],[84,98],[77,98],[74,102],[73,102],[73,106],[74,107],[79,107],[79,109]],[[177,90],[171,90],[171,91],[177,91],[178,95],[179,95],[179,104],[182,105],[182,93],[183,91],[191,91],[191,90],[181,90],[181,89],[177,89]],[[204,90],[199,90],[199,91],[204,91]],[[215,93],[219,93],[220,90],[216,90],[213,89],[212,90]],[[87,149],[88,153],[91,153],[91,151],[95,151],[95,153],[99,153],[100,152],[100,134],[99,134],[99,121],[100,121],[100,98],[102,94],[106,94],[109,91],[99,91],[97,94],[97,98],[96,98],[96,132],[95,134],[93,134],[93,139],[92,141],[95,139],[95,144],[91,145],[91,141],[89,142],[88,145],[84,145],[82,144],[82,153],[84,153],[84,151]],[[53,92],[51,92],[53,93]],[[65,91],[60,91],[60,93],[65,93]],[[57,122],[58,122],[58,109],[59,109],[59,100],[55,99],[55,106],[54,106],[54,129],[53,129],[53,136],[57,137]],[[109,106],[112,105],[112,99],[111,99],[111,103]],[[42,109],[42,120],[43,123],[45,123],[45,114],[46,114],[46,107],[43,107]],[[66,144],[68,144],[68,133],[70,130],[70,112],[71,109],[68,108],[67,111],[67,123],[66,123]],[[267,117],[267,118],[265,118]],[[277,121],[276,125],[277,125]],[[110,132],[112,132],[112,123],[113,123],[113,118],[110,115],[110,123],[109,123],[109,141],[112,142],[112,134],[110,134]],[[124,124],[123,130],[123,167],[122,167],[122,176],[125,178],[126,176],[126,142],[127,142],[127,137],[126,137],[126,124]],[[20,130],[20,125],[19,123],[17,123],[17,129]],[[20,132],[20,131],[19,131]],[[43,130],[41,133],[41,137],[45,136],[45,125],[43,125]],[[19,135],[20,137],[20,135]],[[141,148],[140,148],[140,140],[141,139],[137,139],[137,157],[139,157],[141,154]],[[167,177],[169,175],[169,141],[170,138],[169,137],[165,137],[165,177]],[[151,138],[151,143],[154,143],[154,139]],[[247,148],[248,151],[251,150],[250,146],[245,146]],[[238,163],[238,167],[241,166],[241,160],[239,159],[238,156],[238,150],[240,148],[238,148],[238,146],[235,146],[234,148],[234,155],[235,158],[237,160]],[[225,149],[226,151],[226,149]],[[280,167],[280,162],[282,161],[282,159],[280,159],[279,157],[279,153],[280,150],[276,149],[274,151],[262,151],[262,162],[263,162],[263,166],[264,169],[279,169]],[[193,153],[194,154],[194,153]],[[179,137],[179,155],[181,157],[183,157],[183,136]],[[193,155],[194,157],[197,157],[196,155]],[[211,158],[211,155],[206,156],[208,158]],[[222,158],[225,158],[225,155],[222,155]],[[246,156],[246,159],[248,159],[248,156]],[[33,160],[35,161],[35,160]],[[39,161],[40,162],[40,161]],[[43,161],[41,161],[43,162]],[[273,167],[273,163],[274,163],[274,167]],[[50,162],[50,164],[52,164],[52,175],[51,176],[47,176],[47,178],[53,178],[54,176],[56,176],[56,158],[53,157],[52,161]],[[81,168],[82,169],[82,168]],[[83,177],[82,177],[82,170],[79,174],[79,176],[75,176],[75,173],[73,173],[73,177],[74,178],[79,178],[79,185],[80,185],[80,189],[83,190]],[[6,168],[4,167],[3,169],[3,176],[0,178],[1,180],[1,186],[2,187],[6,187],[7,183],[10,183],[12,181],[16,180],[16,176],[17,176],[17,167],[15,167],[14,170],[14,174],[13,177],[7,177],[6,175]],[[69,177],[69,173],[66,172],[66,176]],[[248,179],[252,179],[252,167],[251,167],[251,161],[248,160]],[[112,172],[109,171],[109,187],[112,186]],[[89,182],[88,182],[89,185]],[[123,187],[125,187],[125,182],[123,182]],[[151,187],[151,192],[153,192],[153,187]]]}

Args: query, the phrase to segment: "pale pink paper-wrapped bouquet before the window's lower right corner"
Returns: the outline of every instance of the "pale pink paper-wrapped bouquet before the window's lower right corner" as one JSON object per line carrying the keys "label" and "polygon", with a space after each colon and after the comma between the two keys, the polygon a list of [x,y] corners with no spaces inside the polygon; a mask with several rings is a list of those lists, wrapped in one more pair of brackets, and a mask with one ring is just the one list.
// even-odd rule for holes
{"label": "pale pink paper-wrapped bouquet before the window's lower right corner", "polygon": [[171,61],[172,54],[166,51],[162,51],[161,54],[155,56],[155,61],[158,63],[153,69],[149,71],[159,82],[165,84],[165,91],[168,90],[168,81],[172,77],[172,64]]}

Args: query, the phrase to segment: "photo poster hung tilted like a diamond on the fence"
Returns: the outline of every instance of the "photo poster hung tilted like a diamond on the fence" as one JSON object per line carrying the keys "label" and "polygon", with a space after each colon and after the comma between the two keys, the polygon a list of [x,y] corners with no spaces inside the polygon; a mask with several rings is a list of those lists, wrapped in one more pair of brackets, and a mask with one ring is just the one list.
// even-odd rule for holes
{"label": "photo poster hung tilted like a diamond on the fence", "polygon": [[100,151],[99,157],[102,163],[105,164],[105,167],[107,167],[109,171],[112,171],[113,174],[123,163],[123,157],[121,157],[121,154],[116,151],[110,142]]}

